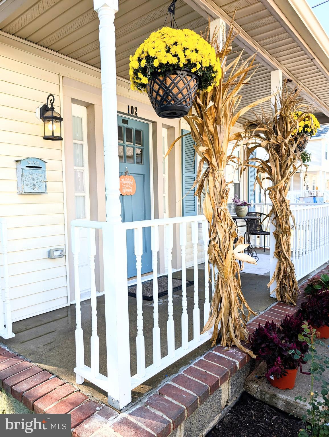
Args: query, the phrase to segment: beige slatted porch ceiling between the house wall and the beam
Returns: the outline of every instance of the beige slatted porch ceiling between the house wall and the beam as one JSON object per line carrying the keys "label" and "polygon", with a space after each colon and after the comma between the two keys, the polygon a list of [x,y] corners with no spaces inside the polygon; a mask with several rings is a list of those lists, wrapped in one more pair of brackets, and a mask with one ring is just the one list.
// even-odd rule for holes
{"label": "beige slatted porch ceiling between the house wall and the beam", "polygon": [[[10,2],[11,0],[6,0]],[[14,11],[0,9],[0,29],[55,52],[100,68],[99,20],[93,0],[26,0]],[[119,0],[115,15],[118,76],[128,78],[129,55],[165,22],[166,0]],[[8,6],[9,8],[9,6]],[[199,32],[207,20],[184,0],[176,4],[175,19],[181,28]],[[166,23],[170,23],[167,17]]]}

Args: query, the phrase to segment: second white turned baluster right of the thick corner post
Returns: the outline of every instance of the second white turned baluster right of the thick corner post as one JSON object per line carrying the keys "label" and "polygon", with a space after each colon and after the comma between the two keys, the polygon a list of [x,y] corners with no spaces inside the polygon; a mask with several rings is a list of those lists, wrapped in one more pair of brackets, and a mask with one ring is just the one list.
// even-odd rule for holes
{"label": "second white turned baluster right of the thick corner post", "polygon": [[159,328],[159,306],[158,306],[158,250],[159,250],[159,226],[151,228],[151,251],[153,269],[153,365],[159,367],[161,364],[161,341]]}

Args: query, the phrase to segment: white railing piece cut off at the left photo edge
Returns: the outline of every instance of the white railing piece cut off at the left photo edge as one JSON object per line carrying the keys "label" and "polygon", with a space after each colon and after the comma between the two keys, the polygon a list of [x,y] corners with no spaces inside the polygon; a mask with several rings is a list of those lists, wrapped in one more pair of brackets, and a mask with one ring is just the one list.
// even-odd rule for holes
{"label": "white railing piece cut off at the left photo edge", "polygon": [[12,331],[11,324],[7,260],[7,221],[5,218],[0,218],[0,249],[2,252],[2,263],[0,262],[0,336],[7,339],[14,337],[15,334]]}

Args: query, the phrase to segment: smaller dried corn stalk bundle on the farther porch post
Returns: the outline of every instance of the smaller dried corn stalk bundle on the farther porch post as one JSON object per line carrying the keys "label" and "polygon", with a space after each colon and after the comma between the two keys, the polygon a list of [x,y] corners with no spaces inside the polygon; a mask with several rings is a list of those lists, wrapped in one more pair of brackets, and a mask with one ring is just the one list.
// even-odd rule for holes
{"label": "smaller dried corn stalk bundle on the farther porch post", "polygon": [[[294,221],[294,217],[287,192],[291,177],[301,166],[298,146],[304,141],[303,137],[295,135],[298,121],[303,115],[298,120],[292,116],[295,111],[302,111],[301,108],[305,107],[300,103],[298,94],[288,91],[285,85],[275,97],[274,115],[263,113],[262,117],[247,122],[244,132],[247,144],[245,166],[256,168],[256,181],[272,201],[269,216],[275,227],[274,257],[277,258],[277,266],[268,286],[276,281],[274,291],[277,300],[293,305],[297,301],[298,281],[291,262],[291,219]],[[267,159],[252,155],[258,147],[265,149]],[[250,164],[249,160],[256,162],[256,165]],[[266,177],[261,179],[261,173]],[[263,180],[270,180],[271,186],[264,188]]]}

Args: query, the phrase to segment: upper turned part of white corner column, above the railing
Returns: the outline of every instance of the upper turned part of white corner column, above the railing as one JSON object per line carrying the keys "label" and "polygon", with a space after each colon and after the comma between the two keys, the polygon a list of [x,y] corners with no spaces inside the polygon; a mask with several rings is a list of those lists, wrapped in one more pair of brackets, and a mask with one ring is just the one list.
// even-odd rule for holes
{"label": "upper turned part of white corner column, above the railing", "polygon": [[115,70],[114,14],[118,0],[94,0],[99,17],[99,42],[102,81],[103,135],[106,221],[121,222],[119,191],[117,77]]}

